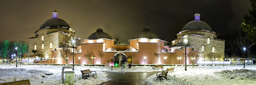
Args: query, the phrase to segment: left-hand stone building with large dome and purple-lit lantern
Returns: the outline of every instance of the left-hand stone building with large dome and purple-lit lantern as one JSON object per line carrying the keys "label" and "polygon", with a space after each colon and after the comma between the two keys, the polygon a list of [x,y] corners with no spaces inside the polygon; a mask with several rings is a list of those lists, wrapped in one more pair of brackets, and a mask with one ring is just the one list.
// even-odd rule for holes
{"label": "left-hand stone building with large dome and purple-lit lantern", "polygon": [[46,58],[51,58],[51,51],[64,45],[72,46],[73,39],[76,41],[75,46],[81,46],[81,39],[75,37],[75,31],[67,22],[58,18],[57,11],[52,12],[52,18],[46,20],[35,34],[28,38],[28,52],[25,55],[29,57],[34,57],[32,50],[37,50],[44,52]]}

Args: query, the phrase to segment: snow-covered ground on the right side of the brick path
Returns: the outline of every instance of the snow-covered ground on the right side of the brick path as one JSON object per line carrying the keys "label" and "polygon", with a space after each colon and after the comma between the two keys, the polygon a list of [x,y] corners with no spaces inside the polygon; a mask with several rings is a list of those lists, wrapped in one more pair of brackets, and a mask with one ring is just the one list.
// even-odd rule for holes
{"label": "snow-covered ground on the right side of the brick path", "polygon": [[[234,66],[197,66],[187,68],[176,67],[173,73],[169,75],[175,76],[181,80],[185,80],[195,85],[256,85],[256,66],[242,65]],[[156,75],[152,75],[146,79],[149,85],[173,85],[171,80],[160,81]]]}

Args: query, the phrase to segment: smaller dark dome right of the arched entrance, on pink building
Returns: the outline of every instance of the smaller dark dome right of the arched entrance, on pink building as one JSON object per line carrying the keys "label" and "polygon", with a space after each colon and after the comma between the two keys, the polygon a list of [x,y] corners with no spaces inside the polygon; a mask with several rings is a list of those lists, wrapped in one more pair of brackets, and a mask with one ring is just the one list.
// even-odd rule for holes
{"label": "smaller dark dome right of the arched entrance, on pink building", "polygon": [[145,27],[142,29],[142,32],[135,35],[134,39],[137,38],[158,39],[158,36],[151,32],[148,27]]}

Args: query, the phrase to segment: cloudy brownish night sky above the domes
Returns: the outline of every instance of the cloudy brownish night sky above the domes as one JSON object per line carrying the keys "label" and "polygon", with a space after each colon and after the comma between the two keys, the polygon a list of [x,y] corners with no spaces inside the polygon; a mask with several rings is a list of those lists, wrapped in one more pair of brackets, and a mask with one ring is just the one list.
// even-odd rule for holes
{"label": "cloudy brownish night sky above the domes", "polygon": [[[161,40],[177,38],[181,19],[200,13],[219,35],[230,33],[251,8],[248,0],[1,0],[0,40],[26,41],[58,11],[81,41],[102,28],[112,38],[129,39],[149,27]],[[187,15],[187,16],[186,16]],[[177,30],[178,29],[178,30]],[[228,37],[228,36],[227,36]]]}

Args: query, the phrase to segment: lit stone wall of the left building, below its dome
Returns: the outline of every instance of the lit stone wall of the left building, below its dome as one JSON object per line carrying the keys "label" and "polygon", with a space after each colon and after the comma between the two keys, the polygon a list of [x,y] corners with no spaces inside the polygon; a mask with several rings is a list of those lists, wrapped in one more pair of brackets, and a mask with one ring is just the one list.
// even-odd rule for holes
{"label": "lit stone wall of the left building, below its dome", "polygon": [[[55,48],[58,48],[61,44],[66,44],[68,42],[68,44],[71,46],[71,36],[75,38],[74,34],[75,33],[72,30],[67,29],[39,29],[36,32],[36,36],[28,38],[28,53],[25,53],[25,55],[28,55],[29,57],[34,57],[34,53],[32,52],[32,50],[34,50],[34,45],[37,45],[38,51],[43,51],[46,56],[51,57],[51,51]],[[42,35],[44,35],[43,41]],[[81,39],[75,38],[75,40],[76,46],[81,46]],[[53,43],[52,48],[50,48],[50,42]],[[44,44],[44,49],[42,49],[42,44]]]}

